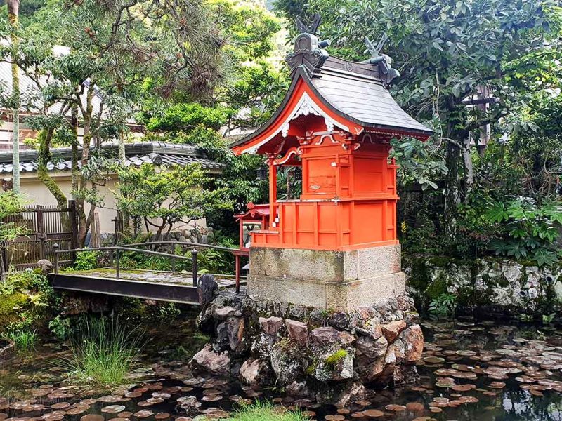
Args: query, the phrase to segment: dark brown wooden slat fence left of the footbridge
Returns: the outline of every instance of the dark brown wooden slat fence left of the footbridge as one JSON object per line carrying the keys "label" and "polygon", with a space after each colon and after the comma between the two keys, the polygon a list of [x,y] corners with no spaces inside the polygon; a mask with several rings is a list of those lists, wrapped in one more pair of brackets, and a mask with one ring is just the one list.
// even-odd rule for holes
{"label": "dark brown wooden slat fence left of the footbridge", "polygon": [[[1,258],[6,269],[23,270],[37,267],[41,259],[55,260],[55,244],[58,250],[77,248],[78,219],[76,202],[69,201],[68,207],[59,209],[57,206],[26,206],[25,210],[5,222],[14,222],[25,227],[25,234],[1,248]],[[74,259],[68,253],[66,260],[60,265],[67,265]]]}

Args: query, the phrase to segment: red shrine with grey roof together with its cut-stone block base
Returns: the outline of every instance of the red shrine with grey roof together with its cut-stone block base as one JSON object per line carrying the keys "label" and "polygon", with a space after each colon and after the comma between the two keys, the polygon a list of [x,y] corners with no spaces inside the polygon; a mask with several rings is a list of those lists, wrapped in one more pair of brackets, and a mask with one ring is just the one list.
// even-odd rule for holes
{"label": "red shrine with grey roof together with its cut-stone block base", "polygon": [[[351,62],[329,56],[313,33],[296,36],[279,109],[231,146],[264,155],[269,168],[268,206],[249,210],[261,223],[251,232],[249,294],[351,311],[405,293],[390,140],[433,132],[388,92],[398,72],[381,44],[367,41],[372,58]],[[301,167],[299,199],[278,199],[281,166]]]}

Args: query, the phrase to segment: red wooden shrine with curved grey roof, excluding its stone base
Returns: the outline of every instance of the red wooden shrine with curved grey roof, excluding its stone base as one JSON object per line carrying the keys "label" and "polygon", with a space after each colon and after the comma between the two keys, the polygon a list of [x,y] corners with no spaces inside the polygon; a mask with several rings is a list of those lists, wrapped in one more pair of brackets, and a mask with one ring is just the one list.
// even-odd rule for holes
{"label": "red wooden shrine with curved grey roof, excluding its stone base", "polygon": [[[389,141],[426,140],[432,131],[388,93],[398,72],[386,55],[376,51],[367,62],[350,62],[329,57],[322,46],[314,34],[297,36],[282,105],[232,146],[235,154],[263,154],[269,167],[268,212],[264,226],[251,232],[251,247],[356,250],[398,243]],[[277,198],[280,166],[302,167],[299,199]],[[241,236],[242,220],[253,211],[237,217]]]}

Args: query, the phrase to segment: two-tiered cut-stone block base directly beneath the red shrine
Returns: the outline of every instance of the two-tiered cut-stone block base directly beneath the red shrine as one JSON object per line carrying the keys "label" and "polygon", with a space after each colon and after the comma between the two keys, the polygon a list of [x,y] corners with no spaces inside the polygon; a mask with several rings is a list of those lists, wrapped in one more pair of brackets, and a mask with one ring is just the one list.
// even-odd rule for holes
{"label": "two-tiered cut-stone block base directly beneath the red shrine", "polygon": [[248,293],[351,312],[406,292],[400,245],[345,252],[251,248]]}

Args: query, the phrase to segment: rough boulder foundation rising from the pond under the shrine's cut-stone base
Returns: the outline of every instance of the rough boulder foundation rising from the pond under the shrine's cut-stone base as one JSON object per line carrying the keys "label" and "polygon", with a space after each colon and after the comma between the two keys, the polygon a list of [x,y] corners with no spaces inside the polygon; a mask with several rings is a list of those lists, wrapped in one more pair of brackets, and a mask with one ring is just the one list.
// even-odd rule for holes
{"label": "rough boulder foundation rising from the pond under the shrine's cut-stone base", "polygon": [[[208,292],[208,283],[203,288]],[[414,364],[424,346],[417,319],[407,295],[346,313],[223,292],[197,319],[213,342],[191,366],[235,375],[251,386],[276,383],[294,396],[344,404],[359,399],[364,385],[398,385],[417,377]]]}

